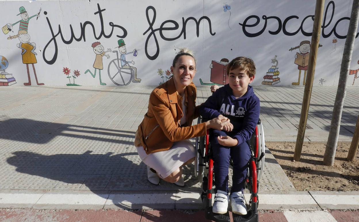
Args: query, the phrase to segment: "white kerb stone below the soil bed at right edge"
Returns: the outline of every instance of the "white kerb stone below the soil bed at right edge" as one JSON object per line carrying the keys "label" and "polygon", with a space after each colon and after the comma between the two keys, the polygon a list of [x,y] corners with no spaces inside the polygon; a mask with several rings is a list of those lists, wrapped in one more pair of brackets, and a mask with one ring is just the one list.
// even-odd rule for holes
{"label": "white kerb stone below the soil bed at right edge", "polygon": [[313,194],[313,198],[318,204],[330,204],[330,205],[359,205],[358,195],[318,195]]}

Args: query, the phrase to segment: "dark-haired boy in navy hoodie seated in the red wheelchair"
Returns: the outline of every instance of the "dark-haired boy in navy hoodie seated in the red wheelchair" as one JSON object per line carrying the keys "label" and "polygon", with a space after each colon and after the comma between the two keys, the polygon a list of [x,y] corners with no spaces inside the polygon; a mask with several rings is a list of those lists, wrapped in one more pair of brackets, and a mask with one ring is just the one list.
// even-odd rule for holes
{"label": "dark-haired boy in navy hoodie seated in the red wheelchair", "polygon": [[[243,188],[247,175],[247,163],[251,156],[247,144],[255,130],[259,118],[260,104],[253,88],[256,67],[252,59],[237,57],[227,69],[229,83],[219,88],[201,106],[200,114],[206,119],[223,115],[230,119],[230,132],[211,130],[210,143],[214,159],[214,179],[216,186],[213,212],[227,213],[228,199],[232,212],[247,214]],[[228,126],[231,127],[232,126]],[[232,190],[228,196],[229,158],[233,160]]]}

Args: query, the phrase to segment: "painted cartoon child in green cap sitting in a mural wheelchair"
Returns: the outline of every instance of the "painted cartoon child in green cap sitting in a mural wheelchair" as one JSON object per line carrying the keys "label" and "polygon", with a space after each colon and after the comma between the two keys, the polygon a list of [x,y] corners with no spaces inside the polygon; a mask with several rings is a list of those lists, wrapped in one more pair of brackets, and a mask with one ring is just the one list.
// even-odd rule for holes
{"label": "painted cartoon child in green cap sitting in a mural wheelchair", "polygon": [[137,69],[134,66],[135,61],[126,61],[126,55],[132,54],[137,56],[137,50],[127,53],[126,44],[123,39],[117,41],[118,43],[118,51],[120,52],[120,58],[118,58],[118,51],[113,51],[116,53],[116,59],[113,59],[108,64],[108,76],[111,81],[118,86],[126,86],[129,85],[130,82],[141,82],[141,79],[137,78]]}

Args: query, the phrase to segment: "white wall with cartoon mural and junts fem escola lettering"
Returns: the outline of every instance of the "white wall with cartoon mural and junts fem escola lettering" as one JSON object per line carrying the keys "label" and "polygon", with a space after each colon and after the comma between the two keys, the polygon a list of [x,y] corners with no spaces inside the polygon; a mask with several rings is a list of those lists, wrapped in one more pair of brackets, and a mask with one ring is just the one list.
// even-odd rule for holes
{"label": "white wall with cartoon mural and junts fem escola lettering", "polygon": [[[352,1],[326,1],[314,85],[333,86]],[[196,85],[224,84],[251,57],[253,85],[303,86],[313,0],[0,1],[0,86],[158,85],[178,47],[195,51]],[[359,85],[358,41],[349,85]]]}

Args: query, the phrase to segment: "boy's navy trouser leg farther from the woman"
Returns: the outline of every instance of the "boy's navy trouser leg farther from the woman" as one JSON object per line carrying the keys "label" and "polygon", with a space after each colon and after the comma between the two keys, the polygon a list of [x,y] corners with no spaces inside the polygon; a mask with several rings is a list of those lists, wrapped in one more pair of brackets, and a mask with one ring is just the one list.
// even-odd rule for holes
{"label": "boy's navy trouser leg farther from the woman", "polygon": [[251,151],[247,142],[243,142],[239,147],[230,148],[230,157],[233,160],[233,184],[230,192],[243,191],[248,161],[251,157]]}

